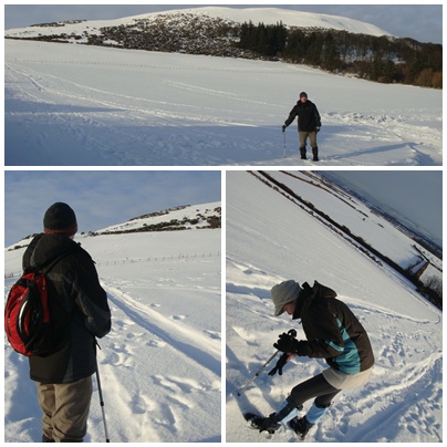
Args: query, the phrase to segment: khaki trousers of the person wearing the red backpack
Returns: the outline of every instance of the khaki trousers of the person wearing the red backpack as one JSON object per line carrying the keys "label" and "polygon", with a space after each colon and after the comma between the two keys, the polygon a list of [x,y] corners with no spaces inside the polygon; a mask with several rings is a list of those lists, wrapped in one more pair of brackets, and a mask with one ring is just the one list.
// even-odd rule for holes
{"label": "khaki trousers of the person wearing the red backpack", "polygon": [[55,443],[82,443],[87,432],[92,377],[67,384],[37,382],[43,436]]}

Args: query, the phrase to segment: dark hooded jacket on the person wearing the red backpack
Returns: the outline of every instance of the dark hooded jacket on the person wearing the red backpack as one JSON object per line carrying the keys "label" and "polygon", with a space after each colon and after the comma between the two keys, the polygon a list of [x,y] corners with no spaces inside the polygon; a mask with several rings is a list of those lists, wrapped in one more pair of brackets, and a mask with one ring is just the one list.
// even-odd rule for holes
{"label": "dark hooded jacket on the person wearing the red backpack", "polygon": [[58,351],[31,356],[31,380],[72,383],[96,371],[95,337],[111,330],[111,311],[90,254],[66,236],[39,235],[23,254],[23,269],[66,253],[46,274],[49,306],[59,339]]}

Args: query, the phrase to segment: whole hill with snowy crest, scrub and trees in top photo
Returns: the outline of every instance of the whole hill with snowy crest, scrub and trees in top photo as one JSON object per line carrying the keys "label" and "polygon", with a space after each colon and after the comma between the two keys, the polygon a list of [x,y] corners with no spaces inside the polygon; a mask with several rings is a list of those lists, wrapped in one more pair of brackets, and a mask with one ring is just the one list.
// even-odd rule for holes
{"label": "whole hill with snowy crest, scrub and trees in top photo", "polygon": [[116,20],[41,23],[7,39],[284,61],[383,83],[441,89],[441,45],[370,23],[278,8],[193,8]]}

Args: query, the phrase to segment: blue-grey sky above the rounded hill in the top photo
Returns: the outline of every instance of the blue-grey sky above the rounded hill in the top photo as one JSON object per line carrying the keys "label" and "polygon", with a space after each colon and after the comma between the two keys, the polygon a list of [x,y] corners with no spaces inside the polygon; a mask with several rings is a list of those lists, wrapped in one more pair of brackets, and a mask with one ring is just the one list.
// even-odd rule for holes
{"label": "blue-grey sky above the rounded hill in the top photo", "polygon": [[[197,4],[199,6],[199,4]],[[226,4],[238,8],[242,6]],[[246,4],[245,7],[256,7]],[[119,19],[127,15],[166,9],[190,8],[188,4],[7,4],[4,28],[70,19]],[[261,7],[269,7],[261,4]],[[422,42],[443,43],[443,6],[439,4],[279,4],[274,8],[297,9],[332,15],[349,17],[375,24],[399,38],[413,38]]]}

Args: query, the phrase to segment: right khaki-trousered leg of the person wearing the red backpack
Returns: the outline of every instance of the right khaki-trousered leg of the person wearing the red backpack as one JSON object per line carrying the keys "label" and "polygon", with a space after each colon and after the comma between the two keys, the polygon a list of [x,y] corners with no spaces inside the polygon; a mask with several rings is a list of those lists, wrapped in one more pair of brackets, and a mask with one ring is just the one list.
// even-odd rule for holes
{"label": "right khaki-trousered leg of the person wearing the red backpack", "polygon": [[55,385],[53,437],[56,443],[82,443],[87,432],[92,377]]}

